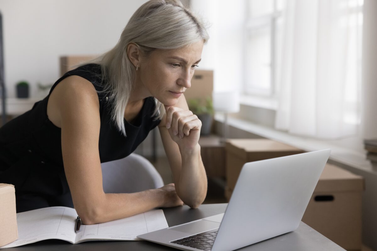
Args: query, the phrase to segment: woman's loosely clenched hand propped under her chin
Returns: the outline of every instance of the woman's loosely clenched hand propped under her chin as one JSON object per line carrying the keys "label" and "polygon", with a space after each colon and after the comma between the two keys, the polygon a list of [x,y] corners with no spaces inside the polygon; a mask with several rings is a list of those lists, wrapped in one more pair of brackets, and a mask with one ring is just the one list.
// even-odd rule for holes
{"label": "woman's loosely clenched hand propped under her chin", "polygon": [[193,150],[198,146],[202,122],[189,110],[165,106],[166,128],[180,149]]}

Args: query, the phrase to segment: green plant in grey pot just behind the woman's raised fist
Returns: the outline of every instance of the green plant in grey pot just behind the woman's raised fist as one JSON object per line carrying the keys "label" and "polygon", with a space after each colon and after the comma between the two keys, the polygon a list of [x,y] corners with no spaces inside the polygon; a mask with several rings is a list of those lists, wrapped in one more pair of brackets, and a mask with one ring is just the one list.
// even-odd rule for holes
{"label": "green plant in grey pot just behind the woman's raised fist", "polygon": [[189,99],[187,101],[190,111],[193,112],[198,119],[202,122],[202,128],[200,135],[208,135],[211,133],[212,116],[213,116],[213,104],[212,99],[207,97],[206,99]]}

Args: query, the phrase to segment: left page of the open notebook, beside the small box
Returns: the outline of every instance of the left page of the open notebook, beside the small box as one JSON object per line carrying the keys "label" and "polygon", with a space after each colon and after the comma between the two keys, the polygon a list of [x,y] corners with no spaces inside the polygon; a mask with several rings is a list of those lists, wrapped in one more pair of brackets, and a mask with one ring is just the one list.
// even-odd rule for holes
{"label": "left page of the open notebook, beside the small box", "polygon": [[76,210],[47,207],[17,213],[18,240],[1,248],[21,246],[40,240],[60,239],[74,243]]}

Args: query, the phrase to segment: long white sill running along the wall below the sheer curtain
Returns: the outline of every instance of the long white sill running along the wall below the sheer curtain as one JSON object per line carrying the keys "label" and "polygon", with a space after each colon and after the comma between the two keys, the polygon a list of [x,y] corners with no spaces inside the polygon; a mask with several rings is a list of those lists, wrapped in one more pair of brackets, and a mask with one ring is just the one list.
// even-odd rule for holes
{"label": "long white sill running along the wall below the sheer curtain", "polygon": [[[215,120],[218,122],[223,122],[224,115],[221,113],[216,113]],[[362,140],[358,138],[338,141],[317,140],[314,138],[291,135],[287,132],[279,131],[267,126],[258,125],[245,119],[239,119],[229,116],[228,125],[246,132],[260,135],[261,137],[280,141],[296,148],[303,149],[304,151],[317,151],[329,148],[331,149],[331,160],[377,174],[377,169],[372,166],[369,160],[366,160],[366,154],[365,150],[363,149]],[[347,142],[345,143],[345,141]],[[345,146],[353,146],[354,148],[349,149]]]}

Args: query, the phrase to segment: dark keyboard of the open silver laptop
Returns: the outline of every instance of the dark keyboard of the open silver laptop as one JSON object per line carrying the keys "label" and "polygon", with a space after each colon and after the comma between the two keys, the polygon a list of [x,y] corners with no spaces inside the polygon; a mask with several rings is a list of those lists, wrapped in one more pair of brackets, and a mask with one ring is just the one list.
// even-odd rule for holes
{"label": "dark keyboard of the open silver laptop", "polygon": [[213,242],[215,242],[216,235],[217,231],[211,230],[200,234],[194,234],[179,240],[173,240],[171,243],[190,246],[200,250],[211,250]]}

